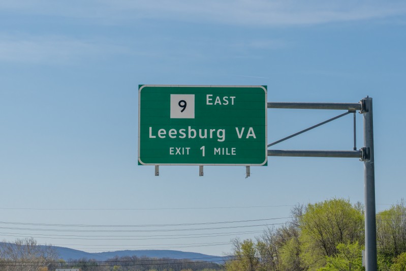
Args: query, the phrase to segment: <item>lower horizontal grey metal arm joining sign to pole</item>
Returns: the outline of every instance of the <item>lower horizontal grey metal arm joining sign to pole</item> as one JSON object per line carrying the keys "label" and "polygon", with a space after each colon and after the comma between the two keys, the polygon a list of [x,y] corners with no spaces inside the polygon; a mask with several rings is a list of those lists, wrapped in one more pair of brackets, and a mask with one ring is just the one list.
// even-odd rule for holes
{"label": "lower horizontal grey metal arm joining sign to pole", "polygon": [[361,150],[280,150],[268,149],[268,156],[360,158]]}

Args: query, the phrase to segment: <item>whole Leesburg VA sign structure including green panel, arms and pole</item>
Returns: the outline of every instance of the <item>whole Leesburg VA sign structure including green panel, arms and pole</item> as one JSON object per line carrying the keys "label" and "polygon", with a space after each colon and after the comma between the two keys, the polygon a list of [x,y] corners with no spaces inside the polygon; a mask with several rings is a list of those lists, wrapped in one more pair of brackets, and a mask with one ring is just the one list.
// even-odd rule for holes
{"label": "whole Leesburg VA sign structure including green panel, arms and pole", "polygon": [[[359,103],[267,103],[266,86],[140,85],[138,163],[266,165],[267,156],[360,158],[364,162],[365,270],[377,270],[372,98]],[[267,108],[348,112],[267,145]],[[364,147],[356,150],[355,112],[363,114]],[[354,113],[354,150],[275,150],[275,145]]]}

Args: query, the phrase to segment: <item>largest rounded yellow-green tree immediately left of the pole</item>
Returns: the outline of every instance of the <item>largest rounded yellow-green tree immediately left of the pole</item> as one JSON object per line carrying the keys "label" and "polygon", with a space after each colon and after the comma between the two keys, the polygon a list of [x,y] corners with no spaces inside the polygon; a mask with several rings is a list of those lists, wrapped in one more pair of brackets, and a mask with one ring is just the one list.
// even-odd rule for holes
{"label": "largest rounded yellow-green tree immediately left of the pole", "polygon": [[308,204],[299,227],[300,257],[310,270],[325,266],[326,256],[339,253],[339,244],[364,243],[363,216],[345,199]]}

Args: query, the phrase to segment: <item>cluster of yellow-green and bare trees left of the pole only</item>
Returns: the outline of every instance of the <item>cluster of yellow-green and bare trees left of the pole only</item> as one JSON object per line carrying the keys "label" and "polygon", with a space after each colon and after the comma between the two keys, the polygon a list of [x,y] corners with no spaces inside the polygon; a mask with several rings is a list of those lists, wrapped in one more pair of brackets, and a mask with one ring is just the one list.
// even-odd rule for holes
{"label": "cluster of yellow-green and bare trees left of the pole only", "polygon": [[268,228],[256,243],[234,240],[227,271],[363,270],[363,206],[331,199],[297,205],[292,221]]}

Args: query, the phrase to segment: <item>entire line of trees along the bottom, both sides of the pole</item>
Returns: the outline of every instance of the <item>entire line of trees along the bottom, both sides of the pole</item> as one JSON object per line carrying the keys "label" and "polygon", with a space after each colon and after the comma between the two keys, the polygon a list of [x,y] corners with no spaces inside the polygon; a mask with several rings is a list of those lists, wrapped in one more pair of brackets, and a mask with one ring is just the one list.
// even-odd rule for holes
{"label": "entire line of trees along the bottom, both sides of the pole", "polygon": [[[107,261],[58,260],[51,246],[33,238],[0,243],[0,271],[337,271],[365,270],[364,208],[349,200],[331,199],[297,205],[291,220],[267,228],[256,239],[233,240],[232,256],[217,259],[115,257]],[[377,214],[378,266],[381,271],[406,271],[406,206],[402,201]],[[205,260],[211,260],[205,261]],[[218,260],[221,260],[219,258]]]}

